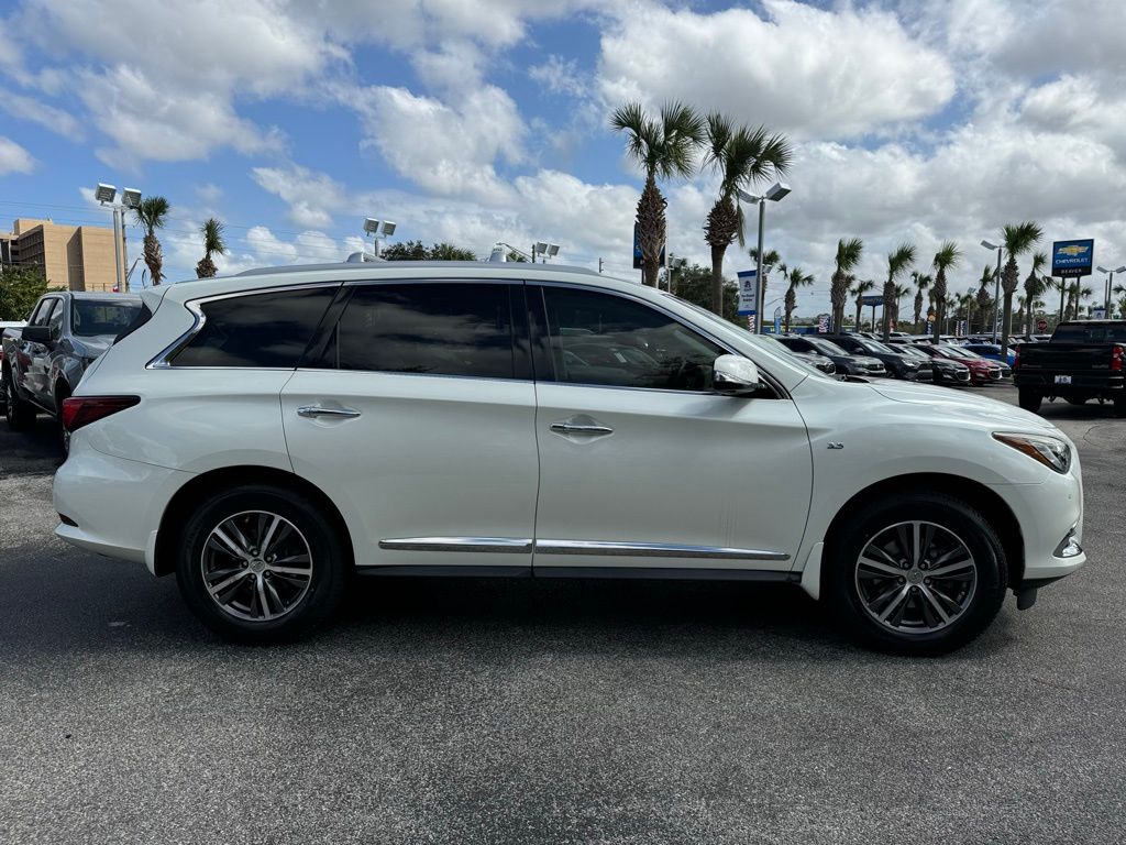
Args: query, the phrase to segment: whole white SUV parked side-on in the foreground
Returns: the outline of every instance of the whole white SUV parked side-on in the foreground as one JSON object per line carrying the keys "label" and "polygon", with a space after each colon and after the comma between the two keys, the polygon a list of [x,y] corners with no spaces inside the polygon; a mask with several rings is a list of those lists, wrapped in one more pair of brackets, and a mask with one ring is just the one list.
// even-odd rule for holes
{"label": "whole white SUV parked side-on in the foreground", "polygon": [[840,382],[636,284],[342,264],[142,296],[65,402],[56,533],[175,572],[231,639],[309,632],[354,573],[706,578],[936,653],[1085,561],[1040,417]]}

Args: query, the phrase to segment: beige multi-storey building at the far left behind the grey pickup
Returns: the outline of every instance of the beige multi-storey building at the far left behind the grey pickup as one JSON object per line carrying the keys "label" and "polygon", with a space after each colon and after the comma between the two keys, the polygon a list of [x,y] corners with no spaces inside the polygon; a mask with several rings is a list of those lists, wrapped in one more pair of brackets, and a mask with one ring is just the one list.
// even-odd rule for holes
{"label": "beige multi-storey building at the far left behind the grey pickup", "polygon": [[20,217],[11,232],[0,232],[0,261],[39,265],[52,287],[111,291],[116,284],[114,230],[108,226]]}

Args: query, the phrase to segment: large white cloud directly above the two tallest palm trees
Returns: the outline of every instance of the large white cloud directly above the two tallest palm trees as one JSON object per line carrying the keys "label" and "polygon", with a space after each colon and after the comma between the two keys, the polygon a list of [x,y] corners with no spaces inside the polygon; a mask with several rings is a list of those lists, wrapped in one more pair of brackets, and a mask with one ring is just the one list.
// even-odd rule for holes
{"label": "large white cloud directly above the two tallest palm trees", "polygon": [[602,37],[604,98],[681,99],[796,136],[849,137],[930,115],[954,95],[946,59],[890,12],[765,7],[766,18],[637,8]]}

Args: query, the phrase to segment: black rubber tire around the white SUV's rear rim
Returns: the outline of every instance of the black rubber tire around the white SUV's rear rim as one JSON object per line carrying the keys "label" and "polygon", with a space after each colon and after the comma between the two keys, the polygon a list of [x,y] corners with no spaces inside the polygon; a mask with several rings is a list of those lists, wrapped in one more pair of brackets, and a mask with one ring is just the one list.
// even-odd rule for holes
{"label": "black rubber tire around the white SUV's rear rim", "polygon": [[[280,516],[296,528],[300,539],[307,544],[312,561],[312,575],[307,579],[307,587],[302,596],[294,601],[292,607],[277,619],[238,619],[232,615],[232,611],[224,610],[217,599],[212,598],[204,580],[205,546],[213,530],[224,525],[229,518],[248,512]],[[292,531],[289,535],[293,536]],[[188,517],[177,559],[176,580],[191,612],[223,639],[254,646],[289,642],[309,635],[327,623],[340,605],[350,569],[349,559],[345,553],[345,542],[332,523],[321,513],[320,507],[306,497],[285,488],[266,484],[239,487],[205,500]],[[214,560],[215,553],[212,550],[208,549],[207,554]],[[245,570],[243,575],[248,585],[245,587],[236,585],[231,594],[245,589],[253,593],[253,585],[266,584],[262,581],[262,578],[267,577],[265,572],[256,576],[250,571],[251,564],[244,563],[233,554],[227,553],[227,558],[232,567],[230,571],[234,571],[234,567]],[[262,561],[258,560],[254,566],[261,563]],[[257,582],[253,581],[256,578]],[[269,582],[278,588],[282,587],[278,580]],[[221,593],[224,594],[227,592]],[[254,601],[257,599],[251,596],[251,607]],[[230,606],[235,605],[232,602]]]}

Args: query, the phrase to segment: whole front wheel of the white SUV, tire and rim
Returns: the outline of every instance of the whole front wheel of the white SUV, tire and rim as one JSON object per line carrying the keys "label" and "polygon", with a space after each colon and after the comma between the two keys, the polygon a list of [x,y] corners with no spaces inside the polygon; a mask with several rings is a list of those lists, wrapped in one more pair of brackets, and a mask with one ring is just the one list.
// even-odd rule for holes
{"label": "whole front wheel of the white SUV, tire and rim", "polygon": [[977,637],[1004,601],[997,533],[959,499],[884,499],[832,542],[825,593],[859,642],[901,655],[940,655]]}

